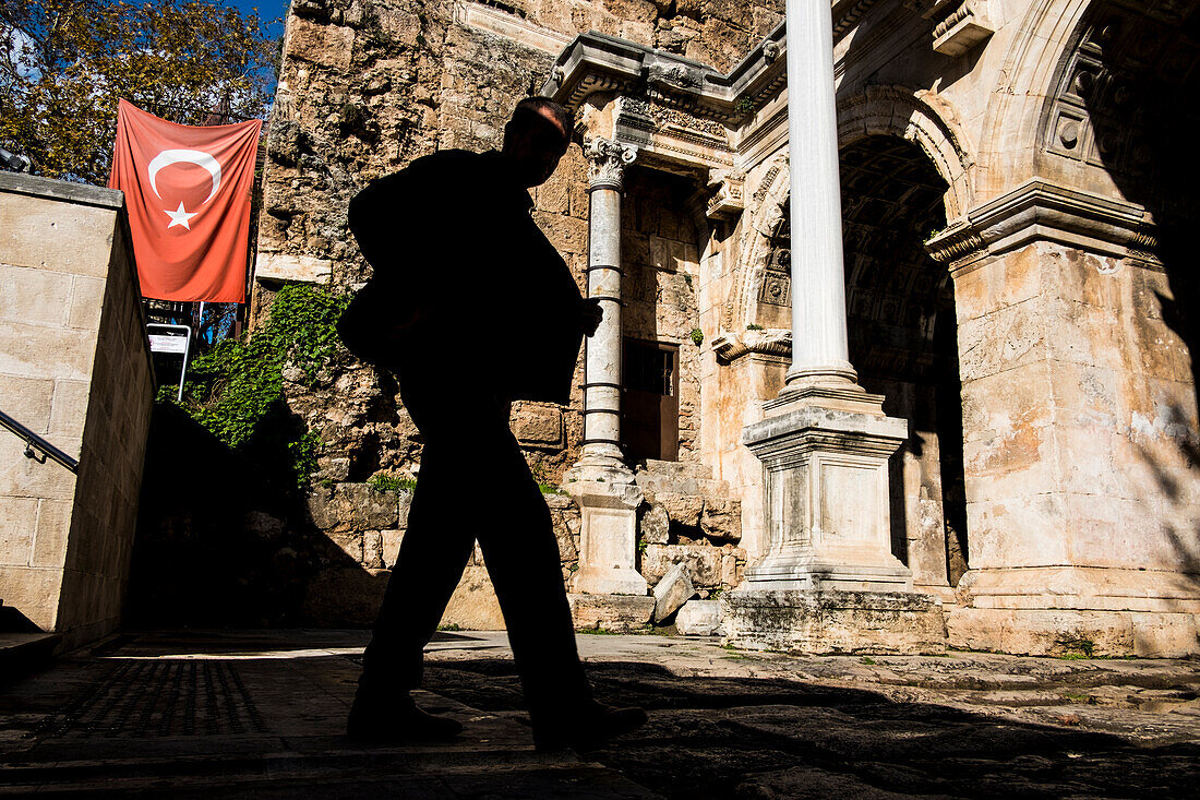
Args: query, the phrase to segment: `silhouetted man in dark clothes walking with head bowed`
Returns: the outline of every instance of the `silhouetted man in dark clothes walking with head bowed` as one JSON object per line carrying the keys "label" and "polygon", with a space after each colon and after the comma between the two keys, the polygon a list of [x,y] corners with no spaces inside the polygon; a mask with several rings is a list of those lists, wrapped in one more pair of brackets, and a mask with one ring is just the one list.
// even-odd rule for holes
{"label": "silhouetted man in dark clothes walking with head bowed", "polygon": [[350,203],[374,276],[340,330],[395,371],[421,431],[408,530],[348,732],[449,739],[461,726],[415,706],[422,649],[479,539],[540,748],[587,750],[646,720],[594,702],[575,646],[550,511],[509,430],[512,400],[565,404],[583,335],[600,322],[529,215],[528,189],[566,153],[571,118],[528,97],[500,153],[449,150],[379,179]]}

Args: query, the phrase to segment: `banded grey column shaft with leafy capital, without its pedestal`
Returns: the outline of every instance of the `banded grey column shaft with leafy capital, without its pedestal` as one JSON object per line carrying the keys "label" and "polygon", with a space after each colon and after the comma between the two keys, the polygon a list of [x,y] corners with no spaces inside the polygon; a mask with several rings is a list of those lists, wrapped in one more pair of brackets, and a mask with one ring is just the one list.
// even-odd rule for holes
{"label": "banded grey column shaft with leafy capital, without its pedestal", "polygon": [[587,143],[588,297],[604,318],[584,345],[583,458],[581,464],[622,468],[620,453],[620,192],[637,150],[610,139]]}

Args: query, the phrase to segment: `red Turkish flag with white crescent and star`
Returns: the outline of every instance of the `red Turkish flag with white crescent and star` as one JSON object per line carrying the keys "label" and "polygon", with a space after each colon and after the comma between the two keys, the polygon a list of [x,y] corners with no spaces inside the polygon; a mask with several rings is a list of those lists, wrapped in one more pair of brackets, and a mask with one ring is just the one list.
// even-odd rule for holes
{"label": "red Turkish flag with white crescent and star", "polygon": [[245,303],[260,129],[176,125],[120,102],[108,185],[125,192],[143,297]]}

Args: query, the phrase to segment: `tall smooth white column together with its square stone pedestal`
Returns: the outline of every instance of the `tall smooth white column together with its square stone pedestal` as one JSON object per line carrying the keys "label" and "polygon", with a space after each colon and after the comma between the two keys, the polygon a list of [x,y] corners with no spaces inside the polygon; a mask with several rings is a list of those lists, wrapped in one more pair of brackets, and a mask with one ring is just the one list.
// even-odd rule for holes
{"label": "tall smooth white column together with its square stone pedestal", "polygon": [[787,0],[787,84],[792,366],[743,431],[766,471],[769,544],[727,598],[726,628],[752,647],[936,650],[940,602],[912,592],[890,548],[888,459],[907,423],[850,364],[828,0]]}

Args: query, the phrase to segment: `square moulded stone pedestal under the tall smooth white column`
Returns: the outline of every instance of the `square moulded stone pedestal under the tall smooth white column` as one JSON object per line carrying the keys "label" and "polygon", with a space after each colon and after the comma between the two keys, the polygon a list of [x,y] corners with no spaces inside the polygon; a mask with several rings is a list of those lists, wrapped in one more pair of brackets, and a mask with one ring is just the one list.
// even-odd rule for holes
{"label": "square moulded stone pedestal under the tall smooth white column", "polygon": [[932,652],[941,601],[914,592],[890,549],[888,458],[907,423],[850,384],[785,392],[746,426],[766,467],[767,551],[726,599],[743,647]]}

